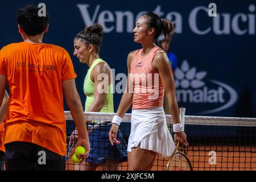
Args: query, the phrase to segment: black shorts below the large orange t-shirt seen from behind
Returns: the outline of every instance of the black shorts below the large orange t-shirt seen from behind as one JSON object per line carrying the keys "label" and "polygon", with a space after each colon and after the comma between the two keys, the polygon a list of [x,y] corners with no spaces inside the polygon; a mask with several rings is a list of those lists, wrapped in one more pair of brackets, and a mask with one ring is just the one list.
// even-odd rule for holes
{"label": "black shorts below the large orange t-shirt seen from behind", "polygon": [[65,156],[28,142],[5,144],[5,163],[7,171],[64,171]]}

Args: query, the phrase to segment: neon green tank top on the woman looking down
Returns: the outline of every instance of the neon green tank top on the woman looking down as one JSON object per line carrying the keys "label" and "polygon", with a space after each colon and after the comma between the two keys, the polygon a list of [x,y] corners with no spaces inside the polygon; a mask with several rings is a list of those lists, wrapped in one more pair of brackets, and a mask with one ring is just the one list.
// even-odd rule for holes
{"label": "neon green tank top on the woman looking down", "polygon": [[[88,111],[89,107],[94,102],[94,82],[90,80],[90,73],[93,68],[100,62],[106,63],[102,59],[97,59],[93,62],[92,66],[88,69],[88,72],[84,79],[84,93],[86,95],[85,111]],[[107,64],[107,63],[106,63]],[[114,112],[114,101],[113,101],[113,83],[108,86],[108,93],[106,94],[106,101],[102,107],[101,113],[113,113]]]}

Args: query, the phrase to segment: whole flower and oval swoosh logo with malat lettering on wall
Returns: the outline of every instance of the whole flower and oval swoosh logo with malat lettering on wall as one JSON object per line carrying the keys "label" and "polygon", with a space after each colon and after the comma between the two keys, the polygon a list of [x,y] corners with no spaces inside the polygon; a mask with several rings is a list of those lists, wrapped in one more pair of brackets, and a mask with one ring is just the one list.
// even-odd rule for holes
{"label": "whole flower and oval swoosh logo with malat lettering on wall", "polygon": [[236,90],[217,80],[205,82],[203,79],[206,75],[207,71],[197,72],[196,67],[189,68],[188,61],[184,60],[175,72],[177,101],[208,106],[214,104],[214,108],[208,107],[209,110],[200,111],[200,114],[216,113],[233,106],[237,101]]}

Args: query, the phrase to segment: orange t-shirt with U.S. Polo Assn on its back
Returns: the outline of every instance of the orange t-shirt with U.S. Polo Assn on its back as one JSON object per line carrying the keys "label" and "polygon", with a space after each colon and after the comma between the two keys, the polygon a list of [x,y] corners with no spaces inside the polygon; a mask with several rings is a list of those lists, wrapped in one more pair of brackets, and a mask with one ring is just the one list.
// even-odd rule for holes
{"label": "orange t-shirt with U.S. Polo Assn on its back", "polygon": [[10,91],[5,144],[30,142],[65,156],[62,81],[76,78],[68,52],[52,44],[9,44],[0,51],[0,74]]}

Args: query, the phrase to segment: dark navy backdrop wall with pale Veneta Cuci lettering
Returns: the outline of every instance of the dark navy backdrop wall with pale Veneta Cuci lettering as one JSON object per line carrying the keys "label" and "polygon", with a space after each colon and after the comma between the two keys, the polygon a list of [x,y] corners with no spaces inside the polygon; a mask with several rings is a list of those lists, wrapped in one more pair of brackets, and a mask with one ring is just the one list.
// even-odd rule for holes
{"label": "dark navy backdrop wall with pale Veneta Cuci lettering", "polygon": [[[82,85],[88,67],[72,56],[77,32],[89,23],[104,24],[100,56],[116,74],[127,73],[127,54],[141,46],[133,42],[136,16],[154,11],[172,19],[176,26],[171,51],[178,59],[179,106],[187,107],[189,115],[256,117],[255,1],[214,1],[217,17],[208,16],[210,1],[203,0],[1,1],[0,47],[22,41],[16,13],[28,3],[40,2],[46,4],[50,15],[44,42],[62,46],[71,54],[83,105]],[[122,18],[124,13],[127,16]],[[115,111],[120,99],[121,94],[116,93]]]}

